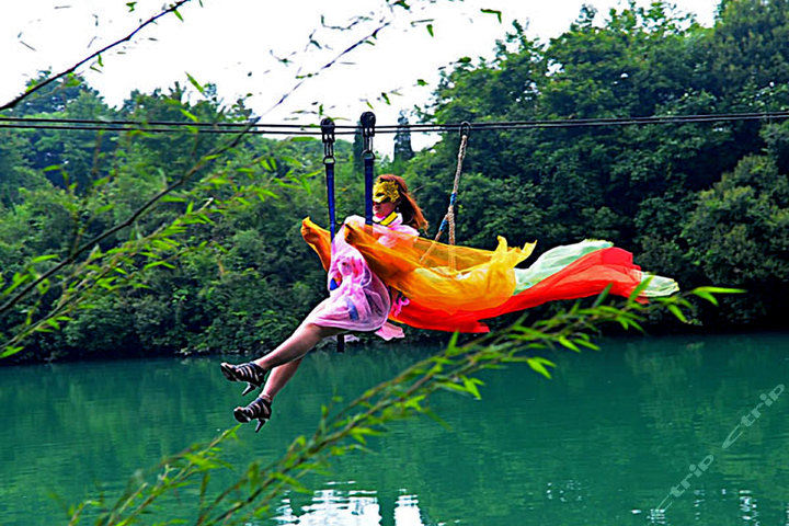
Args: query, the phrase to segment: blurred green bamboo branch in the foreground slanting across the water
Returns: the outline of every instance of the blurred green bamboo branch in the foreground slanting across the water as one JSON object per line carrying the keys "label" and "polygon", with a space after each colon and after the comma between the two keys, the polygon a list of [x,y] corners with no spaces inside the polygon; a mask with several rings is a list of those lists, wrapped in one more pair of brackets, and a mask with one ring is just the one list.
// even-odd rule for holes
{"label": "blurred green bamboo branch in the foreground slanting across the water", "polygon": [[[226,433],[206,448],[192,448],[163,462],[164,476],[156,484],[138,480],[130,484],[117,503],[103,512],[99,524],[113,526],[135,523],[140,513],[158,499],[178,488],[199,487],[199,517],[197,525],[247,524],[252,517],[270,516],[278,499],[288,492],[309,492],[304,479],[309,473],[327,472],[331,460],[352,451],[368,450],[371,438],[386,435],[388,426],[415,414],[425,414],[438,421],[430,410],[430,400],[438,390],[445,390],[476,399],[481,397],[484,384],[478,374],[505,364],[525,363],[531,370],[550,378],[556,363],[538,353],[540,350],[565,348],[578,353],[583,348],[597,350],[592,336],[607,323],[645,317],[649,312],[668,309],[681,319],[684,309],[693,306],[697,297],[714,304],[716,296],[735,290],[702,287],[672,301],[642,305],[626,301],[624,306],[597,305],[580,308],[573,306],[550,319],[527,327],[523,319],[498,332],[460,344],[457,334],[449,345],[422,362],[400,373],[397,377],[366,390],[347,405],[334,409],[327,405],[321,412],[317,430],[310,437],[296,437],[278,460],[261,466],[253,461],[238,480],[208,502],[206,487],[211,470],[226,467],[219,461],[217,446],[235,430]],[[627,328],[634,328],[628,321]],[[240,496],[236,496],[240,495]],[[80,512],[93,505],[85,501],[77,506],[70,524],[79,524]]]}

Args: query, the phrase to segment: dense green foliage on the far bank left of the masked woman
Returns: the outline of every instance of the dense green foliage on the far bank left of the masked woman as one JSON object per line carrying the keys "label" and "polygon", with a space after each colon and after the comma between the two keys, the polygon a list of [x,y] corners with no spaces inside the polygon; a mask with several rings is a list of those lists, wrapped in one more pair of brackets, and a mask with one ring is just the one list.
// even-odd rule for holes
{"label": "dense green foliage on the far bank left of the masked woman", "polygon": [[[26,104],[12,115],[140,122],[249,117],[242,105],[225,108],[210,85],[204,95],[201,102],[190,103],[176,85],[168,93],[133,93],[121,110],[113,110],[80,79],[71,79],[36,99],[37,105]],[[169,134],[1,132],[0,258],[7,284],[31,266],[43,272],[52,260],[42,261],[42,254],[54,261],[69,258],[80,243],[123,221],[163,187],[176,184],[226,140],[218,134],[190,129]],[[339,165],[348,167],[351,146],[338,145],[336,156]],[[176,264],[158,260],[158,272],[140,272],[150,264],[145,252],[138,251],[127,262],[136,268],[133,286],[93,294],[62,331],[37,334],[26,342],[24,354],[57,358],[107,352],[240,352],[274,345],[322,294],[322,270],[311,251],[297,242],[304,216],[325,217],[321,180],[316,176],[322,172],[321,159],[317,139],[244,137],[134,225],[99,243],[106,253],[129,240],[148,239],[188,209],[201,207],[206,216],[214,211],[199,221],[209,224],[188,226],[164,242],[186,249],[175,252]],[[339,193],[357,195],[361,201],[362,191],[348,184],[350,171],[350,167],[339,170]],[[231,206],[219,208],[217,203]],[[350,213],[347,207],[343,210]],[[157,247],[162,241],[152,243]],[[31,265],[31,261],[36,263]],[[60,288],[66,282],[68,276],[58,279]],[[36,316],[44,316],[56,296],[41,299]],[[21,322],[31,310],[30,304],[19,306],[7,317],[4,329]]]}

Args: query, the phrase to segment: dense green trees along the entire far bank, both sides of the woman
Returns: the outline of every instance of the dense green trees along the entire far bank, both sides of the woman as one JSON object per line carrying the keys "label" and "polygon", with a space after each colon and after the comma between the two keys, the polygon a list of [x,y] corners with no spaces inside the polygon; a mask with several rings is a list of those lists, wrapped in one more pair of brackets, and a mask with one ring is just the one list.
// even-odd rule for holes
{"label": "dense green trees along the entire far bank, both sides of the woman", "polygon": [[[602,25],[584,9],[547,44],[527,38],[516,24],[494,58],[458,60],[422,117],[481,123],[786,111],[788,13],[787,0],[729,0],[714,26],[701,27],[658,3],[613,11]],[[184,123],[250,117],[242,102],[228,106],[211,85],[198,88],[197,102],[175,85],[132,93],[113,108],[70,77],[7,115]],[[447,136],[413,158],[403,130],[397,141],[396,159],[379,171],[404,173],[435,229],[458,138]],[[211,155],[217,149],[221,156]],[[91,282],[88,300],[62,316],[62,330],[35,333],[22,356],[258,352],[278,343],[324,294],[323,272],[298,233],[305,216],[325,222],[322,155],[317,139],[250,135],[228,147],[226,136],[195,129],[0,129],[5,297],[22,286],[20,276],[72,255],[82,270],[98,272],[92,258],[116,250],[118,273],[136,276],[127,286]],[[353,146],[339,142],[340,217],[363,209],[353,159]],[[708,327],[781,323],[789,298],[787,122],[472,132],[465,169],[464,244],[489,248],[496,235],[513,243],[536,239],[541,249],[610,239],[684,288],[716,283],[750,290],[716,313],[699,312]],[[165,199],[90,254],[77,250],[162,188],[172,188]],[[184,216],[194,217],[184,222]],[[162,228],[165,237],[155,239]],[[133,250],[136,240],[148,244]],[[150,268],[157,272],[145,272]],[[61,275],[39,285],[35,299],[5,313],[0,331],[13,334],[83,282]],[[59,327],[58,318],[50,323]]]}

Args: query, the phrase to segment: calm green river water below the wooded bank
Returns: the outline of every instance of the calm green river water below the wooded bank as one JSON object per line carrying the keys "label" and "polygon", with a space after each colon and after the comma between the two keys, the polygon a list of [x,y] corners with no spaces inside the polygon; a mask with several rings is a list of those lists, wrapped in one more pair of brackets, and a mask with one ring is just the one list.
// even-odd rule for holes
{"label": "calm green river water below the wooded bank", "polygon": [[[551,356],[552,380],[512,366],[483,375],[482,400],[439,393],[450,428],[397,423],[261,524],[789,525],[789,333],[603,346]],[[430,352],[405,341],[311,354],[273,420],[242,427],[228,458],[277,458],[332,396]],[[138,468],[231,427],[241,386],[220,361],[0,368],[0,525],[66,524],[64,503],[117,493]],[[158,513],[194,506],[184,494]]]}

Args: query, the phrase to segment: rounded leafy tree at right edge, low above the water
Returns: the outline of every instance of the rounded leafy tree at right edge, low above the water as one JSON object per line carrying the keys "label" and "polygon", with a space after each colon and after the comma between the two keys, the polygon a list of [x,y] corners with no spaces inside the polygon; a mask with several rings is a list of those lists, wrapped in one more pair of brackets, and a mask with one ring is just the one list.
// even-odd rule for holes
{"label": "rounded leafy tree at right edge, low above the water", "polygon": [[744,158],[698,195],[685,224],[690,256],[716,283],[748,290],[732,321],[780,317],[789,297],[789,178],[767,156]]}

